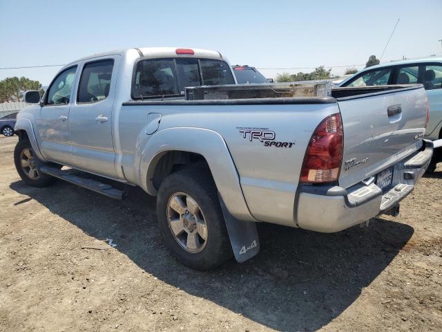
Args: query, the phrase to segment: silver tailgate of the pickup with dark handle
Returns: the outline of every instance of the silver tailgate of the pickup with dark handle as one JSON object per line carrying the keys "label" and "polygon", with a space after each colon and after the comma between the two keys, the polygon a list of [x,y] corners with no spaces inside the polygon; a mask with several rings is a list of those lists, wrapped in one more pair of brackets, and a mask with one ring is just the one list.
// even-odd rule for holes
{"label": "silver tailgate of the pickup with dark handle", "polygon": [[422,146],[427,97],[421,86],[339,98],[344,151],[339,185],[374,176]]}

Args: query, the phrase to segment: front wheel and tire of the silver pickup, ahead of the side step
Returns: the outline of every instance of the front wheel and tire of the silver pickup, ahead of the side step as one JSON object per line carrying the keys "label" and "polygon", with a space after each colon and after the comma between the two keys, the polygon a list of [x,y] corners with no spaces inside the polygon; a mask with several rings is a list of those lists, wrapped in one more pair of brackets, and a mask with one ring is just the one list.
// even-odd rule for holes
{"label": "front wheel and tire of the silver pickup, ahead of the side step", "polygon": [[56,178],[39,171],[39,167],[52,164],[39,160],[29,140],[19,140],[15,146],[14,163],[21,180],[32,187],[46,187],[56,181]]}

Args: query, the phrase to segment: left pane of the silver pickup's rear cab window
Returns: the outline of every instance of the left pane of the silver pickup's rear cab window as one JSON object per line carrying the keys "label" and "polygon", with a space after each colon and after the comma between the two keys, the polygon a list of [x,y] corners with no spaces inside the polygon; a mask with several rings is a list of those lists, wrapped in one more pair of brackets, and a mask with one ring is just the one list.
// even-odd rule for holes
{"label": "left pane of the silver pickup's rear cab window", "polygon": [[142,60],[135,68],[132,98],[177,95],[176,76],[173,59]]}

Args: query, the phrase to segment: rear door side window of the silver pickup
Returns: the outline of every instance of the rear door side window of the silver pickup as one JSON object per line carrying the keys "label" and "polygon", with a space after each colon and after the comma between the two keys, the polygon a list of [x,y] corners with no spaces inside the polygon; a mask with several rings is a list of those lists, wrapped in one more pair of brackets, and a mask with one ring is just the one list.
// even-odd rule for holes
{"label": "rear door side window of the silver pickup", "polygon": [[78,85],[77,102],[99,102],[109,95],[113,60],[85,64]]}

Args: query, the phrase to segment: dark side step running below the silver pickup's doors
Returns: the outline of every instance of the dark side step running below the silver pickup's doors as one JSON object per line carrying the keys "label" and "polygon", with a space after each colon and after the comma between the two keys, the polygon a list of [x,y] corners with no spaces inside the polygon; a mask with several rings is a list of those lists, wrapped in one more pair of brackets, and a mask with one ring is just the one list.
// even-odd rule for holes
{"label": "dark side step running below the silver pickup's doors", "polygon": [[126,197],[126,192],[117,190],[111,185],[93,180],[92,178],[84,178],[73,174],[74,172],[79,172],[73,169],[61,170],[55,167],[41,166],[40,171],[50,176],[55,176],[55,178],[61,178],[61,180],[68,181],[74,185],[92,190],[93,192],[111,197],[111,199],[124,199],[124,197]]}

